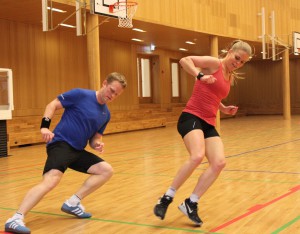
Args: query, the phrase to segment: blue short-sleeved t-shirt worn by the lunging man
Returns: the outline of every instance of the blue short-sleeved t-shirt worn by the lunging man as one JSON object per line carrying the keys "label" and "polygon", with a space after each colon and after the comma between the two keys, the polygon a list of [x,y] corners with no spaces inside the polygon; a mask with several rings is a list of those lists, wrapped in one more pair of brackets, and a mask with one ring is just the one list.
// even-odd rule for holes
{"label": "blue short-sleeved t-shirt worn by the lunging man", "polygon": [[96,132],[103,135],[110,112],[106,104],[98,103],[95,91],[72,89],[57,98],[65,110],[49,144],[65,141],[75,149],[83,150]]}

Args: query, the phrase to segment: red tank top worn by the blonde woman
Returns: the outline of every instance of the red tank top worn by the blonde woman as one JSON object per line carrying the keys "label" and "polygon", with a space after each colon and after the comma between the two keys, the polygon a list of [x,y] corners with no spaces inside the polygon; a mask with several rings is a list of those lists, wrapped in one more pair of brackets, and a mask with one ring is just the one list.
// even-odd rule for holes
{"label": "red tank top worn by the blonde woman", "polygon": [[206,84],[196,80],[192,96],[183,112],[191,113],[208,124],[215,126],[220,102],[227,97],[230,91],[230,81],[225,80],[222,72],[222,63],[212,75],[217,79],[213,84]]}

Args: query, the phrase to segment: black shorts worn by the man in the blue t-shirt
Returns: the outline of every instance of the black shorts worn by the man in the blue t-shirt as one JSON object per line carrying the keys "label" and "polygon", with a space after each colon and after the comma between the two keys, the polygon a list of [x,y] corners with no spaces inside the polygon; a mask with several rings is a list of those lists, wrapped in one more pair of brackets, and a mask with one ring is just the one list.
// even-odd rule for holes
{"label": "black shorts worn by the man in the blue t-shirt", "polygon": [[48,145],[47,155],[43,174],[51,169],[57,169],[64,173],[67,168],[87,173],[91,166],[104,161],[86,150],[76,150],[63,141]]}

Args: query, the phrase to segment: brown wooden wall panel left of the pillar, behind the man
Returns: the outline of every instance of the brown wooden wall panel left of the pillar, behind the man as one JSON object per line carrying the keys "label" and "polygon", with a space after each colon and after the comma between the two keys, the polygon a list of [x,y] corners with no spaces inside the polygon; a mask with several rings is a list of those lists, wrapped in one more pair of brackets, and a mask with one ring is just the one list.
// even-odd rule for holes
{"label": "brown wooden wall panel left of the pillar, behind the man", "polygon": [[41,115],[48,102],[74,87],[88,88],[86,39],[73,31],[0,20],[0,66],[13,70],[14,116]]}

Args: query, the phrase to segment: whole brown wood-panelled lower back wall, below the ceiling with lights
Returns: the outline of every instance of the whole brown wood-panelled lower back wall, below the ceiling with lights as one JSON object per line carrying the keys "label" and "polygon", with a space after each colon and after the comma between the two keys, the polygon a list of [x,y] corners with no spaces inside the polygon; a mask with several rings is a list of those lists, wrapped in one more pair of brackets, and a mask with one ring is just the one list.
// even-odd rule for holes
{"label": "whole brown wood-panelled lower back wall, below the ceiling with lights", "polygon": [[[14,116],[41,115],[45,105],[60,92],[74,87],[88,88],[86,39],[73,31],[58,30],[43,33],[39,27],[0,20],[7,33],[0,38],[1,67],[14,72]],[[70,43],[70,41],[72,43]],[[8,49],[9,48],[9,49]],[[112,109],[137,109],[136,56],[144,53],[141,47],[101,38],[101,77],[119,71],[128,79],[122,98],[112,103]],[[160,96],[157,103],[168,105],[170,100],[169,60],[184,56],[178,52],[155,52],[160,57]],[[154,54],[155,54],[154,53]],[[266,69],[268,67],[268,69]],[[299,109],[299,60],[292,60],[292,112]],[[227,101],[255,113],[281,113],[281,62],[251,61],[244,68],[246,79],[241,80]],[[181,76],[182,101],[188,100],[193,80]],[[169,87],[169,88],[167,88]],[[114,105],[113,105],[114,104]]]}

